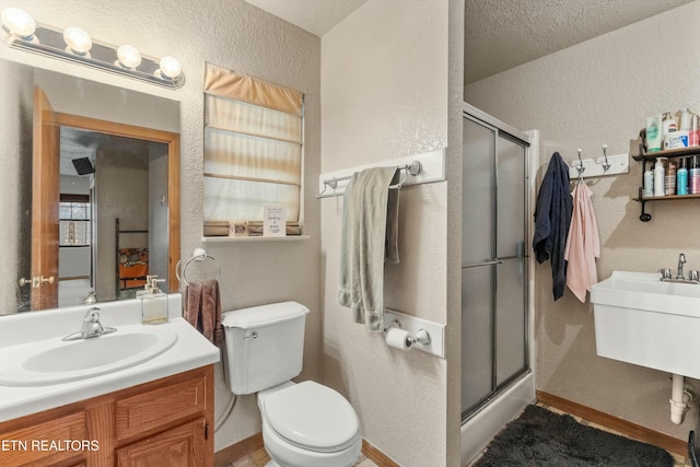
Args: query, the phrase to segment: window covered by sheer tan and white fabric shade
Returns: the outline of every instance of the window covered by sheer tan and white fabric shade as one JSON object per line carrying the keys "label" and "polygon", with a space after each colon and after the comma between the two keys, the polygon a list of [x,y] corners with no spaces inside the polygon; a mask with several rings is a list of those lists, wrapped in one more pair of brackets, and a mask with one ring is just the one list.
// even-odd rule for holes
{"label": "window covered by sheer tan and white fabric shade", "polygon": [[303,94],[207,66],[205,86],[205,235],[232,223],[260,235],[264,208],[287,209],[300,234]]}

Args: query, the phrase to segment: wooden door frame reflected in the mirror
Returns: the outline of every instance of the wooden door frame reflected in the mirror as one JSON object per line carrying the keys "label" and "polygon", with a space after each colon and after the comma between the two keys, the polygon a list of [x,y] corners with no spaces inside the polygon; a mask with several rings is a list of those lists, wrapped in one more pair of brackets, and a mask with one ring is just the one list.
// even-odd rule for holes
{"label": "wooden door frame reflected in the mirror", "polygon": [[179,291],[175,268],[179,261],[179,135],[57,112],[57,125],[167,144],[167,283]]}

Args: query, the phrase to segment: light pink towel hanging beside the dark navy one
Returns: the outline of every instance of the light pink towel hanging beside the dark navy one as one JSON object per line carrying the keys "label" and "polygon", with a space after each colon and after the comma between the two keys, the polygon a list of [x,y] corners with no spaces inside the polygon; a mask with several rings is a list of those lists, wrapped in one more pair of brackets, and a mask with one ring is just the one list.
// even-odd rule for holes
{"label": "light pink towel hanging beside the dark navy one", "polygon": [[586,291],[598,281],[595,258],[600,257],[598,223],[595,220],[593,191],[579,183],[573,189],[573,214],[564,259],[567,260],[567,285],[581,303],[586,301]]}

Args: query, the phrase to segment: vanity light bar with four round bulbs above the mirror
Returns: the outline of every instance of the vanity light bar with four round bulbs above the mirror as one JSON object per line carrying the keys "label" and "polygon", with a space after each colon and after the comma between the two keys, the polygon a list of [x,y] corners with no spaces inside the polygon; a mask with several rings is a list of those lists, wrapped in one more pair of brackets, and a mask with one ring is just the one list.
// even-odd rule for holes
{"label": "vanity light bar with four round bulbs above the mirror", "polygon": [[177,89],[185,84],[185,74],[173,57],[155,59],[142,55],[131,45],[114,47],[94,40],[80,27],[59,31],[37,24],[19,8],[5,8],[0,13],[0,36],[10,46],[49,57],[85,65],[104,71],[135,78],[151,84]]}

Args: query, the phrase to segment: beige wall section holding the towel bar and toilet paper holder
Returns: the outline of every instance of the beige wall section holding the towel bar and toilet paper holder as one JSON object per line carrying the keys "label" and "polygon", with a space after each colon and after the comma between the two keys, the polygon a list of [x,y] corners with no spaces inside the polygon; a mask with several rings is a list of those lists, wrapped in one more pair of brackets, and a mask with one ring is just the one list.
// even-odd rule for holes
{"label": "beige wall section holding the towel bar and toilet paper holder", "polygon": [[[323,172],[447,144],[448,11],[370,0],[323,36]],[[446,361],[387,348],[337,304],[341,211],[340,198],[322,201],[324,381],[397,463],[447,465]],[[400,262],[385,265],[386,307],[446,323],[446,183],[401,189]]]}

